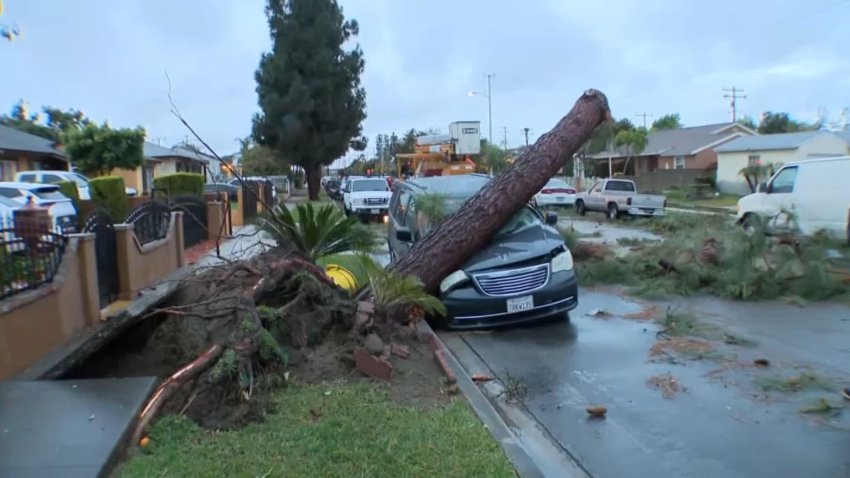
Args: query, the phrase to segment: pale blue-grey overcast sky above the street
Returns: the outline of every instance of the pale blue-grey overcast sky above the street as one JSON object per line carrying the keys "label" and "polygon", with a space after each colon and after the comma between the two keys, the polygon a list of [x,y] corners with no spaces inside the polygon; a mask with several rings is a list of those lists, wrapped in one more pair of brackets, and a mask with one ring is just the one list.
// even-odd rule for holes
{"label": "pale blue-grey overcast sky above the street", "polygon": [[[589,87],[613,113],[678,112],[686,125],[729,119],[723,87],[745,90],[739,115],[812,120],[850,106],[850,1],[342,0],[360,23],[370,147],[378,133],[447,131],[481,120],[492,83],[493,136],[510,146],[551,128]],[[257,110],[254,71],[270,48],[264,0],[4,0],[0,107],[25,99],[142,125],[165,145],[188,131],[237,149]],[[414,6],[416,5],[416,6]],[[650,118],[648,121],[652,121]]]}

